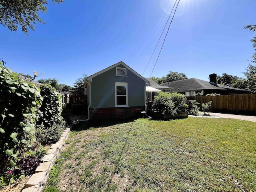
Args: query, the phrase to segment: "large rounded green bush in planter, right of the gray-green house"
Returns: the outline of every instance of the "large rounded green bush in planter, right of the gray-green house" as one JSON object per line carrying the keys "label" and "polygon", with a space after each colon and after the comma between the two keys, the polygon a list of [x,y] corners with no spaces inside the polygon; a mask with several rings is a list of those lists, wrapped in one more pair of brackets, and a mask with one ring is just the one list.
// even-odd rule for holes
{"label": "large rounded green bush in planter, right of the gray-green house", "polygon": [[160,92],[158,96],[154,97],[154,106],[157,112],[175,115],[187,111],[188,105],[185,101],[186,97],[183,94]]}

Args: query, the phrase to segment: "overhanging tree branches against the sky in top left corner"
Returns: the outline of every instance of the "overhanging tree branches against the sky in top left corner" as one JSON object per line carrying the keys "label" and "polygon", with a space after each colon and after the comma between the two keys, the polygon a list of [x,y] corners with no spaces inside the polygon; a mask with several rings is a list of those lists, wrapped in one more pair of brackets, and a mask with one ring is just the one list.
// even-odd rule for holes
{"label": "overhanging tree branches against the sky in top left corner", "polygon": [[[52,0],[52,3],[63,0]],[[39,17],[39,12],[47,13],[47,0],[4,0],[0,1],[0,24],[8,27],[10,31],[18,30],[28,35],[28,28],[34,30],[36,22],[45,24]]]}

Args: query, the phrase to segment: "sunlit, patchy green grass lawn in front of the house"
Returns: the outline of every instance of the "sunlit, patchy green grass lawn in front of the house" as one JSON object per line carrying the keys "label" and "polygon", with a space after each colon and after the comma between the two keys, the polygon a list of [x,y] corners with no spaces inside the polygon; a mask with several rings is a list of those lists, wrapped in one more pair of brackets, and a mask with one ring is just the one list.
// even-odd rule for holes
{"label": "sunlit, patchy green grass lawn in front of the house", "polygon": [[72,131],[44,191],[256,191],[256,123],[138,119]]}

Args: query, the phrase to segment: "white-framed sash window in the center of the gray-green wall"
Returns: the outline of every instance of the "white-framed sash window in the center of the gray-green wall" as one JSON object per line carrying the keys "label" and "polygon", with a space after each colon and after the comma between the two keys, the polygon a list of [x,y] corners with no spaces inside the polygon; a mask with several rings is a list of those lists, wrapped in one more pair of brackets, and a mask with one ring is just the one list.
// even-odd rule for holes
{"label": "white-framed sash window in the center of the gray-green wall", "polygon": [[128,84],[116,82],[116,107],[128,106]]}

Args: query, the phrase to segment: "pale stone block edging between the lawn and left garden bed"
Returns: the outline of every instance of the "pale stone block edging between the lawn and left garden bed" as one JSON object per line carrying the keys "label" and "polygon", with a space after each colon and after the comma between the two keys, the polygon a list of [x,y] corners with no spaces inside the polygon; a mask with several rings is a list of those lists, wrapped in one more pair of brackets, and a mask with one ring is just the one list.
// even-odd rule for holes
{"label": "pale stone block edging between the lawn and left garden bed", "polygon": [[25,188],[21,192],[42,192],[44,185],[49,177],[50,170],[60,155],[62,147],[65,144],[65,140],[70,133],[70,126],[66,126],[66,129],[61,135],[61,138],[55,144],[52,144],[50,149],[46,152],[46,155],[42,158],[42,163],[36,168],[35,173],[30,177],[26,183]]}

